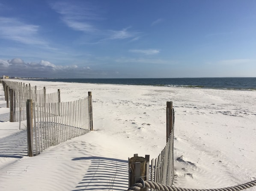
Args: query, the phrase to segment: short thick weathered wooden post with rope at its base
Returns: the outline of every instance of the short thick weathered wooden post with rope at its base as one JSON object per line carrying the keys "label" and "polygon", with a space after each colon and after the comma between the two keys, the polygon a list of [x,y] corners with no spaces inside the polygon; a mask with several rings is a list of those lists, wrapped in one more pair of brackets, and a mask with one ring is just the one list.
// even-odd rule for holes
{"label": "short thick weathered wooden post with rope at its base", "polygon": [[[129,172],[130,172],[130,177],[129,177],[129,187],[134,185],[137,182],[140,182],[140,179],[142,178],[143,180],[145,179],[146,176],[146,163],[147,160],[142,157],[138,156],[137,154],[134,154],[134,157],[129,159]],[[147,191],[148,188],[140,188],[140,191]]]}

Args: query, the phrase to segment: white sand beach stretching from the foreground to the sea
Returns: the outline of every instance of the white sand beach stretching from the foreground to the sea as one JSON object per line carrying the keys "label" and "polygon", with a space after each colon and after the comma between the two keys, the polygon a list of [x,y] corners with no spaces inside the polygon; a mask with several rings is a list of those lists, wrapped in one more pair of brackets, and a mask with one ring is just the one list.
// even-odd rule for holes
{"label": "white sand beach stretching from the foreground to the sea", "polygon": [[[38,156],[4,157],[26,141],[26,121],[21,130],[18,122],[0,122],[0,190],[126,190],[128,157],[155,158],[166,144],[167,101],[175,110],[173,185],[223,188],[256,179],[256,91],[20,82],[60,89],[61,101],[91,91],[94,131]],[[0,116],[8,112],[0,108]]]}

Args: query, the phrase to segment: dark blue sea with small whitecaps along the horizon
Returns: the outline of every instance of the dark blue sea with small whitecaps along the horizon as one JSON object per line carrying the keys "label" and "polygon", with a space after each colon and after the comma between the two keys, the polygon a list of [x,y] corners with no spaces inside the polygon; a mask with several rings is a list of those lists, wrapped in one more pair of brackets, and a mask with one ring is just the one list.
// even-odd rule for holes
{"label": "dark blue sea with small whitecaps along the horizon", "polygon": [[43,78],[30,80],[94,84],[125,84],[231,90],[256,90],[256,78]]}

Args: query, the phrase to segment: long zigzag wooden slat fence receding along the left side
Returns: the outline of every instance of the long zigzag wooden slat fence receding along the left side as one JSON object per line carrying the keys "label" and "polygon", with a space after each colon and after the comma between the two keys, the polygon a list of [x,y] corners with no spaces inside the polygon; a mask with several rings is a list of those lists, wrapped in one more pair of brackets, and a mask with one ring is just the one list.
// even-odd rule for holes
{"label": "long zigzag wooden slat fence receding along the left side", "polygon": [[46,94],[45,87],[2,82],[10,122],[27,120],[28,156],[93,130],[91,92],[77,101],[60,102],[60,90]]}

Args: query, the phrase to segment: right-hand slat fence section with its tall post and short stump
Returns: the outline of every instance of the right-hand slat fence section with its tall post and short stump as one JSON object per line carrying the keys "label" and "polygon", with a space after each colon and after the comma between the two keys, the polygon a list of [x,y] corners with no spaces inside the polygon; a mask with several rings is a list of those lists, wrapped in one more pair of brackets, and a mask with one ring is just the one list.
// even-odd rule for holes
{"label": "right-hand slat fence section with its tall post and short stump", "polygon": [[[167,101],[167,143],[156,159],[151,160],[149,165],[149,155],[145,156],[146,163],[142,165],[143,157],[129,158],[129,187],[135,182],[150,180],[164,185],[173,185],[174,180],[174,156],[173,156],[173,138],[174,138],[174,109],[173,102]],[[138,163],[138,164],[137,164]],[[136,168],[138,165],[138,168]],[[143,173],[145,172],[145,173]],[[139,176],[139,177],[138,177]],[[135,177],[135,180],[134,180]],[[141,189],[147,191],[147,188]],[[155,189],[151,188],[152,191]]]}

